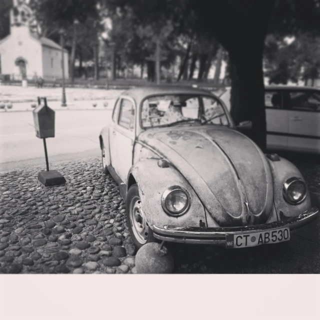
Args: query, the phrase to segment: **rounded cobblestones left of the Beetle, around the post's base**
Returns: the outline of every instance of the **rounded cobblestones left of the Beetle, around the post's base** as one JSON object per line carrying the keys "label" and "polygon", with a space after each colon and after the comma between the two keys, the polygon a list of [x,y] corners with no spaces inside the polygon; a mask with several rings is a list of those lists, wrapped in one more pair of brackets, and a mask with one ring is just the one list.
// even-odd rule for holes
{"label": "rounded cobblestones left of the Beetle, around the post's base", "polygon": [[100,159],[54,169],[64,185],[43,186],[43,167],[0,173],[0,273],[134,273],[125,206]]}

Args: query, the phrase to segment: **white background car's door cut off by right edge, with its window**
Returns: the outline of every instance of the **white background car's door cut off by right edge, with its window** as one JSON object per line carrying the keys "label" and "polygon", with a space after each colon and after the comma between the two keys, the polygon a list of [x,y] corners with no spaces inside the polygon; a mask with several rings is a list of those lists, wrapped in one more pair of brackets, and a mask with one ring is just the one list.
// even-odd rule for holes
{"label": "white background car's door cut off by right edge, with its window", "polygon": [[320,153],[320,90],[290,90],[288,148]]}

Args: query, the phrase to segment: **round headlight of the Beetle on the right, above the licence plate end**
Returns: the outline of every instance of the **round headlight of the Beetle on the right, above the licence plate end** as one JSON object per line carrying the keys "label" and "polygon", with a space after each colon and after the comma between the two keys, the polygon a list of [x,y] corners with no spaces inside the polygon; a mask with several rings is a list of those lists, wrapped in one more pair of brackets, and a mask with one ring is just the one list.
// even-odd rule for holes
{"label": "round headlight of the Beetle on the right, above the licence plate end", "polygon": [[283,197],[290,204],[301,203],[306,197],[306,192],[306,185],[300,178],[289,178],[283,184]]}

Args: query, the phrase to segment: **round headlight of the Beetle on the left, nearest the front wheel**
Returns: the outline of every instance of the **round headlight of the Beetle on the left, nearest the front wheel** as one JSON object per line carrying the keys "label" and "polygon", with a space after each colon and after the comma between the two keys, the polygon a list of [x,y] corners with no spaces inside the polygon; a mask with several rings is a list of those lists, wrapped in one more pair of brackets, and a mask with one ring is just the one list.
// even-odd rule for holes
{"label": "round headlight of the Beetle on the left, nearest the front wheel", "polygon": [[161,204],[166,213],[179,216],[188,210],[190,198],[185,189],[178,185],[173,185],[163,192]]}

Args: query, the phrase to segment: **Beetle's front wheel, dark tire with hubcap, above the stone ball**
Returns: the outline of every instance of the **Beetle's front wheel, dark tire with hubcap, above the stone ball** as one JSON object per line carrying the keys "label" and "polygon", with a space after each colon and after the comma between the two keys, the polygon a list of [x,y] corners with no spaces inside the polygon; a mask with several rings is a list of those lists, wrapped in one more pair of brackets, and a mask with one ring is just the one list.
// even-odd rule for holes
{"label": "Beetle's front wheel, dark tire with hubcap, above the stone ball", "polygon": [[145,218],[136,184],[129,187],[125,201],[126,221],[133,244],[137,249],[149,242],[157,242]]}

